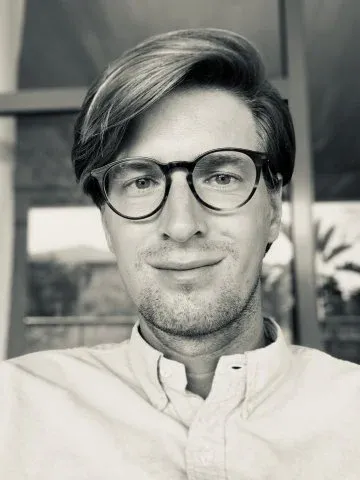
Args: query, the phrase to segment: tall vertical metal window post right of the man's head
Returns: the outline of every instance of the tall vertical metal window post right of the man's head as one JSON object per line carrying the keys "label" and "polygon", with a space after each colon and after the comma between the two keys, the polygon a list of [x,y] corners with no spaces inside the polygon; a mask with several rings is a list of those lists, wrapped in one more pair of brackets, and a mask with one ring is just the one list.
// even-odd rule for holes
{"label": "tall vertical metal window post right of the man's head", "polygon": [[291,182],[292,240],[294,244],[295,339],[323,349],[316,309],[315,239],[312,206],[314,170],[311,152],[308,81],[305,57],[304,2],[279,0],[287,48],[289,106],[296,132],[297,161]]}

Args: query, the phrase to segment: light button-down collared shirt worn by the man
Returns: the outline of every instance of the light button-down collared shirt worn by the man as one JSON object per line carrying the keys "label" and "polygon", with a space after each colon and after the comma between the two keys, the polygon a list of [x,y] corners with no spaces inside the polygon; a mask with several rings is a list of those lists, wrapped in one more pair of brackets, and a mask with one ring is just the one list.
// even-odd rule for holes
{"label": "light button-down collared shirt worn by the man", "polygon": [[0,366],[2,480],[359,480],[360,367],[272,343],[220,358],[204,400],[141,337]]}

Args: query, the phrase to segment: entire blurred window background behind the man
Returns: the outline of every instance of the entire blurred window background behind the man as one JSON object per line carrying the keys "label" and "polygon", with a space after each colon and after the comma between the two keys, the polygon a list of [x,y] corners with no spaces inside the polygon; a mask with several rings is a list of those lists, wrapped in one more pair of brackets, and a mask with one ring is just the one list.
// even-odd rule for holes
{"label": "entire blurred window background behind the man", "polygon": [[257,46],[294,117],[264,312],[289,342],[360,363],[359,22],[358,0],[1,0],[0,358],[129,336],[136,311],[71,170],[74,119],[125,49],[205,26]]}

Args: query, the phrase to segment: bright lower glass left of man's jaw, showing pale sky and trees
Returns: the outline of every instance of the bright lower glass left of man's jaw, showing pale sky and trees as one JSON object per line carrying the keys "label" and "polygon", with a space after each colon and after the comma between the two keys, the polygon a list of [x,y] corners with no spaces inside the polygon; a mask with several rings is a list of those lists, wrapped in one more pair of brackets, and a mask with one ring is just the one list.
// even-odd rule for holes
{"label": "bright lower glass left of man's jaw, showing pale sky and trees", "polygon": [[99,210],[32,208],[28,218],[27,350],[118,342],[130,333],[134,315],[134,305],[107,248]]}

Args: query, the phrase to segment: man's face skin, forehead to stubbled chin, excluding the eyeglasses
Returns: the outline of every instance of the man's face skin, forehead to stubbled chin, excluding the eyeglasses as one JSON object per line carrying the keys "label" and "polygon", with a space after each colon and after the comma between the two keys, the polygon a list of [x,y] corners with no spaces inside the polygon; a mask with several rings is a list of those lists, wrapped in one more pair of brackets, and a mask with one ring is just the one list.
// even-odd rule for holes
{"label": "man's face skin, forehead to stubbled chin, excluding the eyeglasses", "polygon": [[[224,90],[179,90],[142,116],[122,156],[190,162],[222,147],[264,150],[251,111]],[[168,333],[194,336],[217,331],[251,310],[280,211],[280,194],[271,200],[262,176],[252,199],[228,213],[201,205],[186,172],[175,170],[160,212],[128,220],[105,206],[103,224],[144,320]]]}

